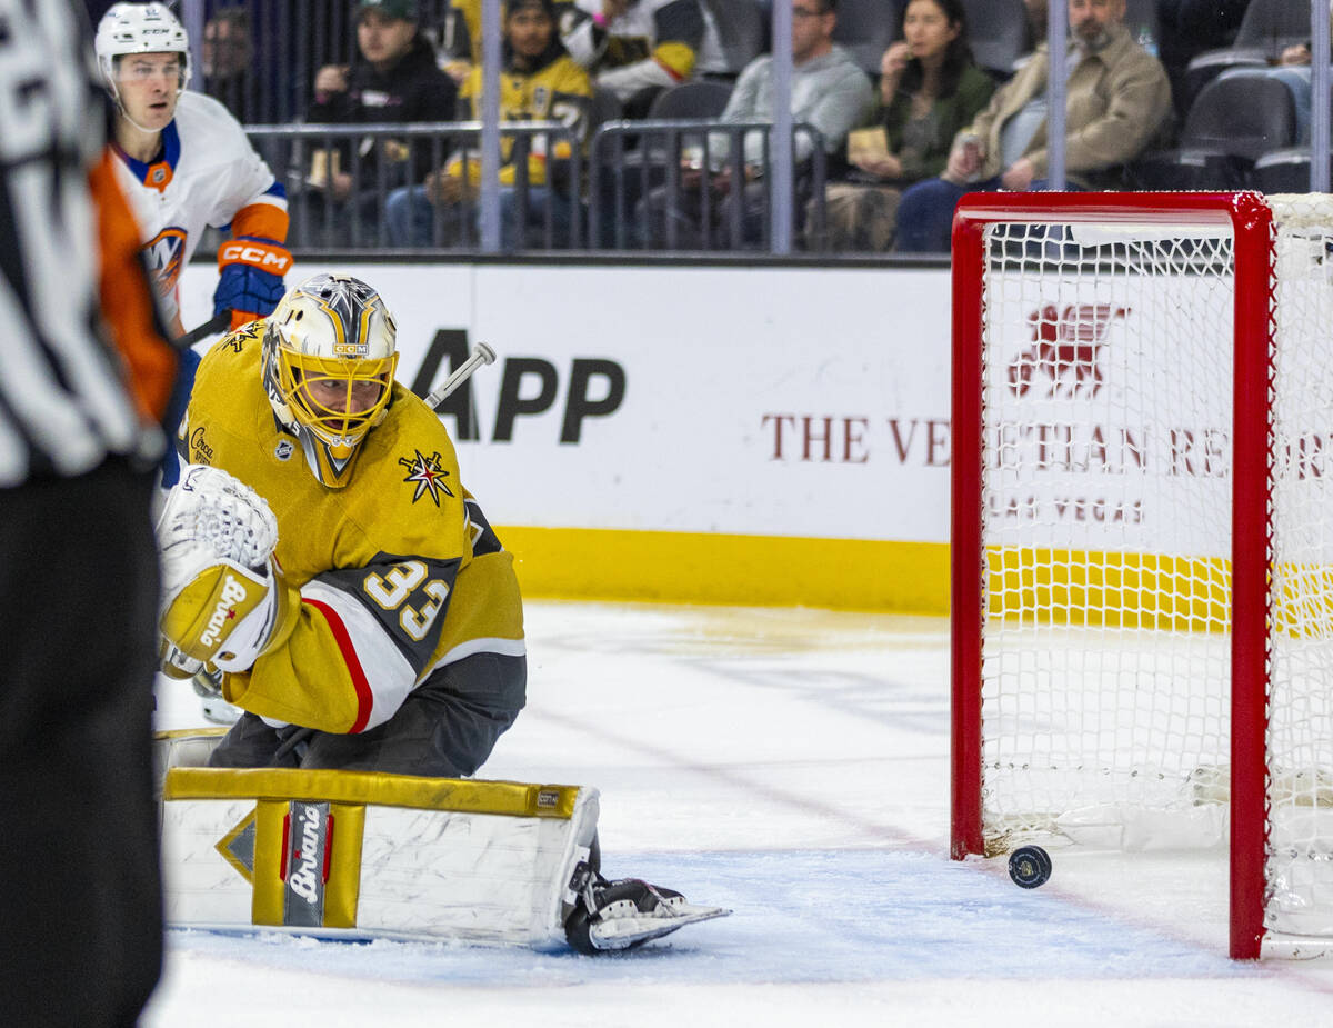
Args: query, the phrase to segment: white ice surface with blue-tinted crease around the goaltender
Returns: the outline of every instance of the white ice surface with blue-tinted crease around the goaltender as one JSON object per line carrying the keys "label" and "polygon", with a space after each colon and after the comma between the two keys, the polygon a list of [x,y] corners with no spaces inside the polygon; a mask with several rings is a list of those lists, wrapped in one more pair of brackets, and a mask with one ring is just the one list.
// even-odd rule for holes
{"label": "white ice surface with blue-tinted crease around the goaltender", "polygon": [[145,1025],[1333,1025],[1333,960],[1226,959],[1221,855],[948,860],[944,621],[527,611],[481,776],[597,785],[608,875],[736,913],[597,959],[171,931]]}

